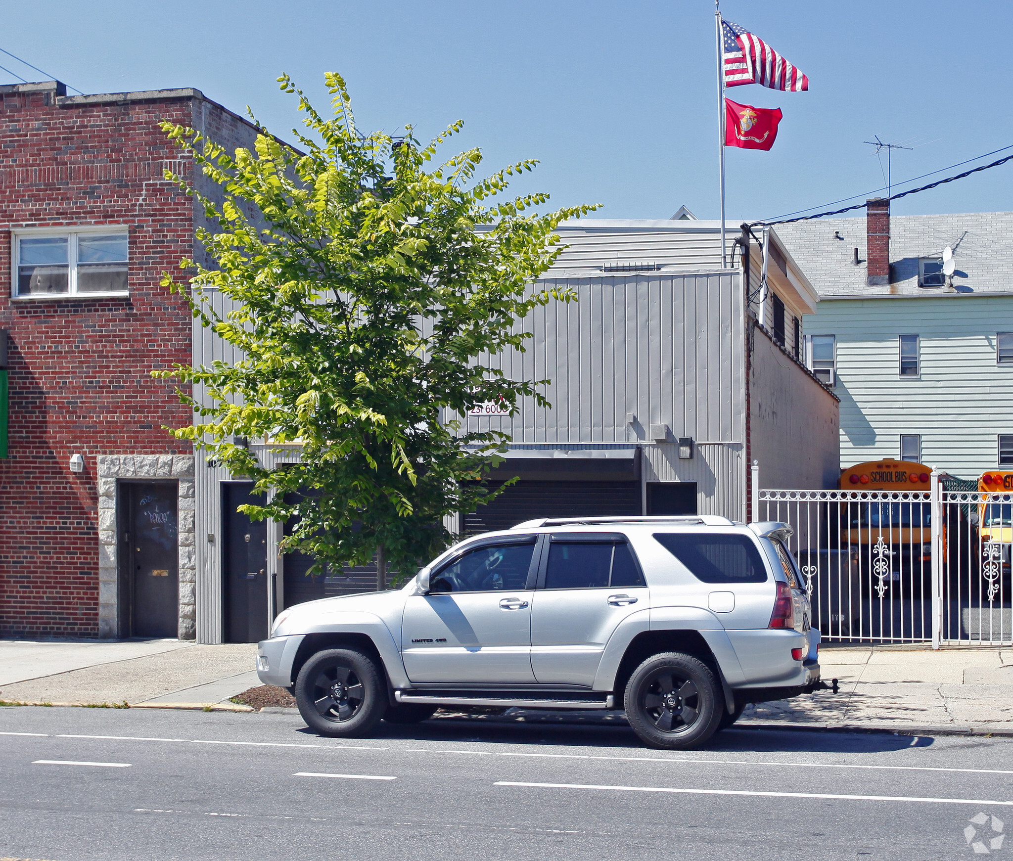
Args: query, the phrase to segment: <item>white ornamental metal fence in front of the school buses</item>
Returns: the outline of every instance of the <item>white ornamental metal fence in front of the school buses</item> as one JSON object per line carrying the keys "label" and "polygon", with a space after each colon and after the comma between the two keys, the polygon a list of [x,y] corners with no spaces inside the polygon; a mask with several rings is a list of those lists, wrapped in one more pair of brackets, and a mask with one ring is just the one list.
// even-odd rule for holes
{"label": "white ornamental metal fence in front of the school buses", "polygon": [[842,642],[1013,643],[1013,494],[759,490],[756,520],[790,524],[812,625]]}

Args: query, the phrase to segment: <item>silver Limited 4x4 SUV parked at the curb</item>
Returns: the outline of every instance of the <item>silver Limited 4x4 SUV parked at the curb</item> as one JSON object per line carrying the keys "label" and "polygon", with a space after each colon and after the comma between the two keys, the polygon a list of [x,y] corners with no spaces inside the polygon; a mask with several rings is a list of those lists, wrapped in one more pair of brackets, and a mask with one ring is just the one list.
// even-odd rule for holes
{"label": "silver Limited 4x4 SUV parked at the curb", "polygon": [[258,675],[326,735],[448,705],[623,708],[652,748],[699,746],[747,703],[823,687],[790,534],[706,516],[529,521],[403,589],[290,607]]}

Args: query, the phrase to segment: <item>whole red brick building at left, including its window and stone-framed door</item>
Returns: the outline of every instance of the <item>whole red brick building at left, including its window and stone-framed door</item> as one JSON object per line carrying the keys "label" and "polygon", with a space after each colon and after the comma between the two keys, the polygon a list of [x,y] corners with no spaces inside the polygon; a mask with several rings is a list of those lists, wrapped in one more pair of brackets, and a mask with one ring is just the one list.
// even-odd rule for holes
{"label": "whole red brick building at left, including its window and stone-framed door", "polygon": [[150,372],[190,362],[160,281],[204,218],[164,174],[205,180],[159,123],[230,148],[255,129],[194,89],[0,98],[0,636],[192,637],[193,454],[162,429],[190,416]]}

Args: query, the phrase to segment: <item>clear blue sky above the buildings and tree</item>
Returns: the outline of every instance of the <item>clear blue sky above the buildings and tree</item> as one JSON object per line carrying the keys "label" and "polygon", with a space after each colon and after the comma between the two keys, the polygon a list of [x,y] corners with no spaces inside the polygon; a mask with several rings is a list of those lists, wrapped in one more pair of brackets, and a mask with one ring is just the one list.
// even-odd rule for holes
{"label": "clear blue sky above the buildings and tree", "polygon": [[[729,218],[884,185],[862,143],[873,135],[916,146],[894,152],[894,180],[1013,144],[1006,3],[724,0],[721,8],[811,87],[729,91],[784,111],[771,152],[727,151]],[[233,110],[250,105],[288,137],[295,100],[275,78],[288,72],[325,108],[322,75],[335,70],[361,127],[411,123],[427,138],[463,119],[458,146],[482,147],[490,170],[540,159],[517,188],[546,190],[554,205],[601,203],[600,218],[660,219],[685,204],[717,217],[708,0],[36,0],[7,6],[4,23],[0,48],[86,93],[192,86]],[[43,77],[6,56],[0,65]],[[0,81],[14,80],[0,72]],[[1013,210],[1011,191],[1013,162],[893,211]]]}

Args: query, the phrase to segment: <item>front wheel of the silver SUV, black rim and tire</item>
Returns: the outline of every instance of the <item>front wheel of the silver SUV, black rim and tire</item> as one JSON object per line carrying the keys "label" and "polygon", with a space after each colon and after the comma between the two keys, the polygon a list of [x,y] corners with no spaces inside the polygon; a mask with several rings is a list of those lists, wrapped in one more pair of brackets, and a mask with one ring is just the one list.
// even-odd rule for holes
{"label": "front wheel of the silver SUV, black rim and tire", "polygon": [[299,671],[296,704],[321,735],[367,735],[387,711],[387,686],[369,655],[352,648],[318,651]]}

